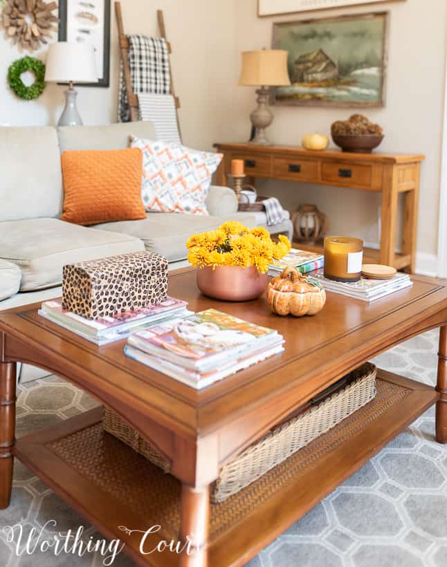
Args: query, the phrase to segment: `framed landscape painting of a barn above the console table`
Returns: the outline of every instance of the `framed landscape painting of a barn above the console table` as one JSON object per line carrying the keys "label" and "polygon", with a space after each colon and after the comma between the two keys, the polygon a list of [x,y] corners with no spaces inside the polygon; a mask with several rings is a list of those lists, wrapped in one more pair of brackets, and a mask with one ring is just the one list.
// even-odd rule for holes
{"label": "framed landscape painting of a barn above the console table", "polygon": [[273,24],[273,48],[289,52],[291,86],[273,104],[384,106],[387,12]]}

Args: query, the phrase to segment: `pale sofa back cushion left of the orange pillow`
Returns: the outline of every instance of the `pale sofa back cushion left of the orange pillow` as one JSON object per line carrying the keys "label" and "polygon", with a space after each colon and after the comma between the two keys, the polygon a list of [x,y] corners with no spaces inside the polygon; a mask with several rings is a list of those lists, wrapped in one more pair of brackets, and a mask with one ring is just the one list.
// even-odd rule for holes
{"label": "pale sofa back cushion left of the orange pillow", "polygon": [[53,127],[0,127],[0,221],[58,216],[62,176]]}

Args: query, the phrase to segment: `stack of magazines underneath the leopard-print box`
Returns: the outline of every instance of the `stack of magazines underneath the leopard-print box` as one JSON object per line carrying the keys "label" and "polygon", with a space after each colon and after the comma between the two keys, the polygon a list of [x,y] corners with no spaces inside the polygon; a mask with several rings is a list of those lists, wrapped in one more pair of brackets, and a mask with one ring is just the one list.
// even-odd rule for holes
{"label": "stack of magazines underneath the leopard-print box", "polygon": [[167,297],[159,304],[91,320],[62,308],[62,299],[51,299],[51,301],[44,301],[39,309],[39,315],[102,346],[124,339],[134,331],[147,328],[165,319],[186,317],[192,313],[188,311],[187,306],[186,301]]}

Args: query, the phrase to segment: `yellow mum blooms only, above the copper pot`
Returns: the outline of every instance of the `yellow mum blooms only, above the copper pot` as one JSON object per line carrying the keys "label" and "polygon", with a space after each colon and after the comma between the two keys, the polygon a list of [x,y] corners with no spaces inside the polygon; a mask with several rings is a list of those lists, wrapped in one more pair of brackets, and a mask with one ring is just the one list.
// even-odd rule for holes
{"label": "yellow mum blooms only, above the copper pot", "polygon": [[228,222],[216,230],[194,234],[188,239],[188,261],[197,268],[207,266],[255,266],[261,274],[268,272],[273,260],[284,257],[291,249],[286,236],[273,242],[263,227],[249,229],[241,223]]}

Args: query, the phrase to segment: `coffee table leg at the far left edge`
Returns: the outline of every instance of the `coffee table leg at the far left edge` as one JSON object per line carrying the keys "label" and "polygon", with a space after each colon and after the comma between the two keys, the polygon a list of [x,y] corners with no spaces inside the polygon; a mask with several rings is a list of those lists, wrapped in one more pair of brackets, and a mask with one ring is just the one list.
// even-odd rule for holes
{"label": "coffee table leg at the far left edge", "polygon": [[0,510],[8,508],[15,443],[15,362],[0,362]]}

